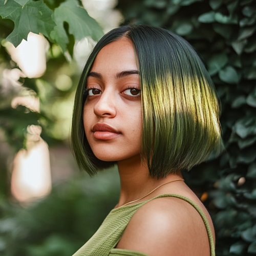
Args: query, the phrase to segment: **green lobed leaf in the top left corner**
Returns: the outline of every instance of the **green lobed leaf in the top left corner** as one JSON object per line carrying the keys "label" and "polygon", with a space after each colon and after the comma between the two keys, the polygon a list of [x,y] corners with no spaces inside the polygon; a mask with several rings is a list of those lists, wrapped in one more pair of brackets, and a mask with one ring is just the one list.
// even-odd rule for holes
{"label": "green lobed leaf in the top left corner", "polygon": [[55,23],[51,17],[52,10],[46,6],[43,0],[8,0],[6,4],[4,2],[5,0],[0,0],[0,15],[14,22],[14,30],[6,40],[15,47],[23,39],[27,40],[29,32],[50,36]]}

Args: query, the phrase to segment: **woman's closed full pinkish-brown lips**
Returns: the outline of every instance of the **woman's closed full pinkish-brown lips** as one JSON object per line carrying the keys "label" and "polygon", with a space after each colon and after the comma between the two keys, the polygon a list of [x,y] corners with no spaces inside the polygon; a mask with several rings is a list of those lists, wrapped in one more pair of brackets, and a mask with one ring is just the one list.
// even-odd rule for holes
{"label": "woman's closed full pinkish-brown lips", "polygon": [[93,125],[92,132],[94,138],[98,140],[111,140],[120,135],[120,132],[105,123],[96,123]]}

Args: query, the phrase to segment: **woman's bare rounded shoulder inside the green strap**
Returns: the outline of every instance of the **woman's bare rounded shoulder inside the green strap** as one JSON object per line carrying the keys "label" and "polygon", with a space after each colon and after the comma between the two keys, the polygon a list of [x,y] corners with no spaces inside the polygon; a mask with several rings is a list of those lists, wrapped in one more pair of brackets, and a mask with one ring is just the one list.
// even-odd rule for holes
{"label": "woman's bare rounded shoulder inside the green strap", "polygon": [[210,255],[207,231],[198,211],[174,197],[143,205],[127,225],[117,248],[148,255]]}

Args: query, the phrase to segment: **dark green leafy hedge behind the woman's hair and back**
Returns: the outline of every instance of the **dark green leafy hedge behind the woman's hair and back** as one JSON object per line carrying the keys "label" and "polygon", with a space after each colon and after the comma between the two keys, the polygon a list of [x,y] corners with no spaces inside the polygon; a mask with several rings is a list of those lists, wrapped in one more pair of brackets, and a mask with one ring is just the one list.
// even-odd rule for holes
{"label": "dark green leafy hedge behind the woman's hair and back", "polygon": [[201,54],[221,99],[226,151],[185,175],[216,227],[217,256],[256,254],[256,1],[119,0],[124,24],[159,26]]}

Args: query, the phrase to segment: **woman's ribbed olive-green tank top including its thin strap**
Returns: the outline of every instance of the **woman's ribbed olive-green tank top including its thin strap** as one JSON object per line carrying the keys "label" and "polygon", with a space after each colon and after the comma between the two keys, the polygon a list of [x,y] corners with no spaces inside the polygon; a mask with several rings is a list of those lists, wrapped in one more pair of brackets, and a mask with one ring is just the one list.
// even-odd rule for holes
{"label": "woman's ribbed olive-green tank top including its thin strap", "polygon": [[93,237],[90,240],[88,240],[88,242],[84,244],[77,252],[75,252],[73,256],[147,256],[142,252],[126,249],[117,249],[115,248],[115,246],[122,237],[124,229],[126,228],[127,224],[129,223],[135,212],[145,203],[161,197],[180,198],[191,204],[199,212],[207,230],[210,244],[210,255],[215,256],[214,238],[212,237],[208,220],[204,215],[203,211],[198,205],[196,205],[190,199],[175,194],[164,194],[144,202],[121,206],[119,208],[113,209],[102,222],[101,226],[93,235]]}

